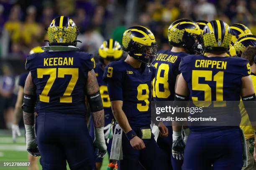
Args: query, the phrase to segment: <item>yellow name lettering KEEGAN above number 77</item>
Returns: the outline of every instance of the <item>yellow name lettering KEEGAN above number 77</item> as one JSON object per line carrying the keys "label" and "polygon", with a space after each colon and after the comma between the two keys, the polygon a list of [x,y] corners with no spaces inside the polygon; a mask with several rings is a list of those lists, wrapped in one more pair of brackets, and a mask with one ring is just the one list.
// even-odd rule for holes
{"label": "yellow name lettering KEEGAN above number 77", "polygon": [[44,58],[44,66],[73,65],[73,57]]}

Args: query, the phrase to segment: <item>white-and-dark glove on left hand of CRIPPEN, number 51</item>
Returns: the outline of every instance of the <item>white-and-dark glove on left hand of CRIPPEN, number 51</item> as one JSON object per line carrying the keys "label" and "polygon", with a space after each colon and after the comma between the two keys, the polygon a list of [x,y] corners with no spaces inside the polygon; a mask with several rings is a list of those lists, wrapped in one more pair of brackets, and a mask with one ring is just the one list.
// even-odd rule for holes
{"label": "white-and-dark glove on left hand of CRIPPEN, number 51", "polygon": [[182,136],[182,131],[172,133],[172,156],[177,160],[182,160],[184,156],[185,143]]}

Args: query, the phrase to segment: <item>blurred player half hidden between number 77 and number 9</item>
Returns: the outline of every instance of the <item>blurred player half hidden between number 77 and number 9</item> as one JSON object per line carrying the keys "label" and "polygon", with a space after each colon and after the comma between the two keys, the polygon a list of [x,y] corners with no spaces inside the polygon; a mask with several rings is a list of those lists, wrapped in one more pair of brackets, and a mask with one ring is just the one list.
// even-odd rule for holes
{"label": "blurred player half hidden between number 77 and number 9", "polygon": [[[100,46],[98,50],[98,57],[100,60],[100,63],[98,63],[94,69],[95,75],[97,77],[97,82],[100,87],[100,95],[104,107],[104,114],[105,114],[105,125],[104,125],[104,133],[105,133],[105,140],[106,140],[106,145],[107,145],[107,150],[108,150],[108,156],[110,156],[110,150],[111,150],[111,145],[112,145],[112,139],[109,139],[109,133],[112,132],[111,129],[111,122],[114,118],[112,110],[111,110],[111,105],[110,105],[110,99],[108,95],[108,87],[107,83],[102,80],[102,76],[104,73],[104,68],[108,63],[112,61],[117,61],[120,60],[120,58],[123,55],[123,50],[119,42],[113,40],[110,38],[109,40],[105,40],[102,45]],[[90,135],[93,136],[94,138],[94,128],[93,128],[93,121],[91,119],[90,122]],[[100,170],[102,166],[102,158],[97,158],[96,159],[96,169]],[[113,165],[112,165],[113,164]],[[110,167],[115,168],[115,163],[110,163]]]}

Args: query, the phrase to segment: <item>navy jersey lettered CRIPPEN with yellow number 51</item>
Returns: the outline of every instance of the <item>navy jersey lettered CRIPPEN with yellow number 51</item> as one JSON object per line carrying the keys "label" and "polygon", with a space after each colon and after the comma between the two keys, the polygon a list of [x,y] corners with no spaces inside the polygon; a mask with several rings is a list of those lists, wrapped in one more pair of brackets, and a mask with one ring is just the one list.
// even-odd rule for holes
{"label": "navy jersey lettered CRIPPEN with yellow number 51", "polygon": [[[195,105],[204,106],[204,110],[210,112],[223,112],[224,114],[226,108],[224,106],[228,106],[226,102],[217,104],[211,101],[239,101],[241,78],[251,73],[248,60],[243,58],[206,57],[204,55],[183,57],[179,70],[188,84],[190,100],[209,101],[197,104],[194,102]],[[232,108],[235,115],[239,115],[241,119],[238,105],[233,105]],[[192,130],[206,128],[210,127],[190,127]]]}

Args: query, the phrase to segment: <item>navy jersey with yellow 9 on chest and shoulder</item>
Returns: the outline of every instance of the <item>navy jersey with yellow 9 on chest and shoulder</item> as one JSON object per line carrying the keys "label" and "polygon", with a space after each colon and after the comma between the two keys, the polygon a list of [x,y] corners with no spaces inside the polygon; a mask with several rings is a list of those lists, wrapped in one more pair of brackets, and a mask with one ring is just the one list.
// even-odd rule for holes
{"label": "navy jersey with yellow 9 on chest and shoulder", "polygon": [[141,64],[133,68],[123,60],[105,67],[103,80],[108,83],[110,101],[122,100],[123,111],[131,126],[143,127],[151,123],[151,81],[155,67]]}

